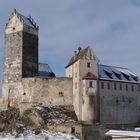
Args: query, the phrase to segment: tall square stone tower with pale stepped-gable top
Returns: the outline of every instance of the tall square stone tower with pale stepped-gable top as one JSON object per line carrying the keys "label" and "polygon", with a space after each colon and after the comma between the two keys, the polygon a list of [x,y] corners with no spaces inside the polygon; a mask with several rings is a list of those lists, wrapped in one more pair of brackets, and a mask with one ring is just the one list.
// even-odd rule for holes
{"label": "tall square stone tower with pale stepped-gable top", "polygon": [[5,27],[3,84],[38,74],[38,26],[16,10]]}

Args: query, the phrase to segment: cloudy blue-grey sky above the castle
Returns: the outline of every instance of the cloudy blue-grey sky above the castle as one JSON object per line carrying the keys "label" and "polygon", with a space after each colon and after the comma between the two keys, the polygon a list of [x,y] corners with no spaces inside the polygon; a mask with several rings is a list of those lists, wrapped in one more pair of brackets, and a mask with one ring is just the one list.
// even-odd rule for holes
{"label": "cloudy blue-grey sky above the castle", "polygon": [[4,24],[14,8],[39,25],[39,60],[56,75],[64,76],[79,45],[89,45],[102,64],[140,74],[140,0],[1,0],[1,73]]}

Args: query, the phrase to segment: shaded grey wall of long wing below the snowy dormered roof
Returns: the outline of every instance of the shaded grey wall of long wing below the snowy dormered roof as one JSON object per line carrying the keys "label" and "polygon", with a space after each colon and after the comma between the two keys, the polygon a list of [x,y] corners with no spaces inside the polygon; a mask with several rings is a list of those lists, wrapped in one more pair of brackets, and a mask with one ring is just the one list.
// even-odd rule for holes
{"label": "shaded grey wall of long wing below the snowy dormered roof", "polygon": [[[102,88],[101,82],[104,83]],[[107,84],[110,84],[108,89]],[[114,89],[116,83],[116,89]],[[122,89],[120,90],[120,84]],[[128,85],[128,91],[126,91]],[[134,89],[132,91],[132,86]],[[102,81],[100,91],[100,122],[108,124],[136,124],[140,116],[139,84]]]}

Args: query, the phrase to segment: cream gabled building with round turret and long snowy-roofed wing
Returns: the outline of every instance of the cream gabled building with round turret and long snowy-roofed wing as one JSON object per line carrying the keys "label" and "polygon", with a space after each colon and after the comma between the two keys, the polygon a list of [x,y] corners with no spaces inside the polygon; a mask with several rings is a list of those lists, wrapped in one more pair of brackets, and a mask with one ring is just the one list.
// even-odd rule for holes
{"label": "cream gabled building with round turret and long snowy-roofed wing", "polygon": [[127,68],[99,64],[90,47],[80,49],[66,66],[73,79],[73,102],[79,120],[136,124],[140,119],[139,77]]}

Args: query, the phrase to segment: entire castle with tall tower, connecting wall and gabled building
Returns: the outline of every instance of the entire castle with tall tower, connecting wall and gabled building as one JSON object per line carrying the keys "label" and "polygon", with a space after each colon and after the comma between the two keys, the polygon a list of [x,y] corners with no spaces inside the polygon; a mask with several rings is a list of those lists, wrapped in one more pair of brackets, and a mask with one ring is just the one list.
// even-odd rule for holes
{"label": "entire castle with tall tower, connecting wall and gabled building", "polygon": [[83,122],[140,121],[138,75],[101,65],[90,47],[79,47],[66,66],[66,77],[55,77],[47,64],[38,63],[38,30],[32,17],[12,12],[5,27],[1,108],[73,106]]}

